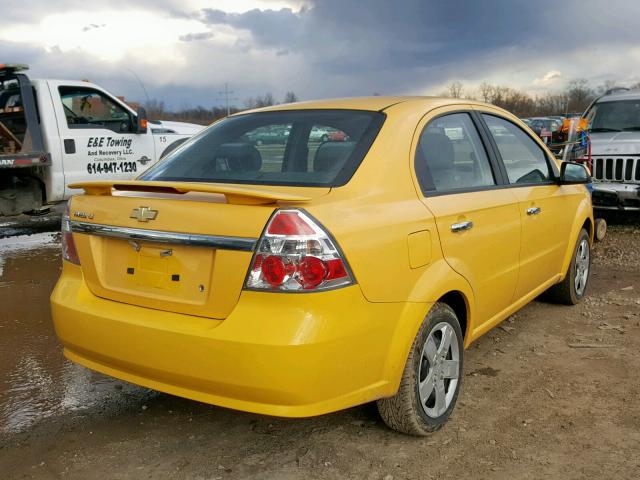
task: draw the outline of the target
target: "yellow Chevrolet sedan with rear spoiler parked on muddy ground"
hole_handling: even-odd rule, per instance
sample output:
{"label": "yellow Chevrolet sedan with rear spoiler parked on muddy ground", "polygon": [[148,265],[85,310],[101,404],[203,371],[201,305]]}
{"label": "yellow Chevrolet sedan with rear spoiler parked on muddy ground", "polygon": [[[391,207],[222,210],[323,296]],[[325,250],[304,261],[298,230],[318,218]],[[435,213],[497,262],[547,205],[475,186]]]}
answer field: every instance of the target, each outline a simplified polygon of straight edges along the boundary
{"label": "yellow Chevrolet sedan with rear spoiler parked on muddy ground", "polygon": [[[265,130],[289,134],[248,140]],[[425,435],[474,340],[545,291],[584,296],[588,182],[482,103],[243,112],[136,181],[71,186],[53,321],[69,359],[135,384],[287,417],[377,401]]]}

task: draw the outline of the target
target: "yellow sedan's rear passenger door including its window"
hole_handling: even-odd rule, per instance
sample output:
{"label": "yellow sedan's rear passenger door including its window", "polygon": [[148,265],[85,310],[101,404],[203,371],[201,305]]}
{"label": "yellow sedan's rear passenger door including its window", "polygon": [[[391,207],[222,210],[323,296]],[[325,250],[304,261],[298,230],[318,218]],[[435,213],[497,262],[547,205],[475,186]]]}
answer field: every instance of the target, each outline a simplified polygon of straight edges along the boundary
{"label": "yellow sedan's rear passenger door including its window", "polygon": [[[422,201],[436,219],[442,253],[474,291],[473,335],[510,305],[518,280],[520,213],[478,119],[460,106],[436,110],[419,126],[415,171]],[[458,111],[456,111],[458,110]]]}

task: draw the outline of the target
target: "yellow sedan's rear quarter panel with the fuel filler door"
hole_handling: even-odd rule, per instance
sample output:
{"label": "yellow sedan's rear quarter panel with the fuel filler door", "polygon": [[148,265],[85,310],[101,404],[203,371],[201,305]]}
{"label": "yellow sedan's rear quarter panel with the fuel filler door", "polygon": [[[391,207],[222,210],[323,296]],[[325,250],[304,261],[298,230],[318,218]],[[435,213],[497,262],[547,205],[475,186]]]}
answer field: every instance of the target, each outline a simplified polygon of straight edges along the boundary
{"label": "yellow sedan's rear quarter panel with the fuel filler door", "polygon": [[[307,207],[336,237],[367,300],[424,304],[420,315],[399,327],[401,350],[410,346],[430,304],[444,294],[460,291],[468,310],[474,308],[470,285],[443,258],[435,219],[412,177],[416,126],[431,109],[416,103],[387,109],[385,124],[351,181]],[[416,233],[425,241],[417,253],[412,250]],[[416,263],[416,257],[426,261]]]}

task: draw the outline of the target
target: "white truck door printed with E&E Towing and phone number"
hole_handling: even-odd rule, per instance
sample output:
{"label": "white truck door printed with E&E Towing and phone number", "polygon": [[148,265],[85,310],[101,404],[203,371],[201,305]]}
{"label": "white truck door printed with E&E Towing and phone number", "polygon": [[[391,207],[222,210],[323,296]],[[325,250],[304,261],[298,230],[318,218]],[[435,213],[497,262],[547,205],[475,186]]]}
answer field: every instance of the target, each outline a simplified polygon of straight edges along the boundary
{"label": "white truck door printed with E&E Towing and phone number", "polygon": [[[51,82],[65,183],[129,180],[155,158],[153,135],[134,133],[135,114],[93,86]],[[65,196],[73,193],[65,187]]]}

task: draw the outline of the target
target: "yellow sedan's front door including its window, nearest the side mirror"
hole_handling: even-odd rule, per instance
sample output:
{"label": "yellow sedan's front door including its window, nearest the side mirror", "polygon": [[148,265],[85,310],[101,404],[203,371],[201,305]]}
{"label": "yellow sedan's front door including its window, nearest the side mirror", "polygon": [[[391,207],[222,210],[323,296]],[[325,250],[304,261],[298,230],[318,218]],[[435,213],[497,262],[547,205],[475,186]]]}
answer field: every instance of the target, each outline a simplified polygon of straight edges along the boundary
{"label": "yellow sedan's front door including its window, nearest the side mirror", "polygon": [[483,112],[482,119],[522,218],[517,301],[560,273],[575,208],[556,181],[555,162],[536,139],[497,111]]}

